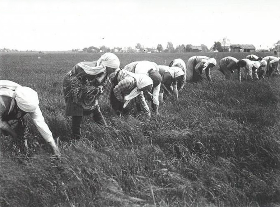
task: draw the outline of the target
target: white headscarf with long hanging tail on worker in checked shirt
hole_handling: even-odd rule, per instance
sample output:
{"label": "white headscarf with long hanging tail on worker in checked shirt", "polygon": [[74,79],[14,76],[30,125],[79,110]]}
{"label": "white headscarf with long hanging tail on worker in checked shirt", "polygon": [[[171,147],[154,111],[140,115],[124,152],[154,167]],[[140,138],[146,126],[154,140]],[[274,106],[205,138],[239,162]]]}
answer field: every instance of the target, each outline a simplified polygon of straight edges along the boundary
{"label": "white headscarf with long hanging tail on worker in checked shirt", "polygon": [[128,74],[136,79],[136,88],[134,88],[128,95],[124,96],[124,108],[127,106],[130,100],[138,96],[142,91],[139,91],[139,89],[142,89],[146,86],[153,85],[152,79],[144,74],[135,74],[128,72]]}

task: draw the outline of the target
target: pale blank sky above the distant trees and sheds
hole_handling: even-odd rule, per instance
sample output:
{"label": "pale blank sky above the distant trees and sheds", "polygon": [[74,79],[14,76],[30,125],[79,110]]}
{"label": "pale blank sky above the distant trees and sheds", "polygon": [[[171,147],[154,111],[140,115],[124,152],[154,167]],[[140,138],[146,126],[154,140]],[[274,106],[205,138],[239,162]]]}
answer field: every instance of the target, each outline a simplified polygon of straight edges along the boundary
{"label": "pale blank sky above the distant trees and sheds", "polygon": [[62,51],[89,46],[268,49],[280,40],[280,0],[0,0],[0,48]]}

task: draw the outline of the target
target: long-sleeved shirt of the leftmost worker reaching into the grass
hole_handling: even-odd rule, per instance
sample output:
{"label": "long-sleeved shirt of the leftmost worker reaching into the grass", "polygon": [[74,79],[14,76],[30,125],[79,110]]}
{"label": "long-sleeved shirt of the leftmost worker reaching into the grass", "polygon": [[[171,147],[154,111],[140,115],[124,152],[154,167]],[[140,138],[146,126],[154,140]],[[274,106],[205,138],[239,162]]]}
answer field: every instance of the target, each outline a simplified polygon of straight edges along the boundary
{"label": "long-sleeved shirt of the leftmost worker reaching into the grass", "polygon": [[[14,106],[11,106],[12,98],[8,96],[0,96],[0,126],[1,130],[5,131],[11,131],[13,130],[11,126],[8,124],[7,121],[18,119],[20,117],[23,117],[24,114],[21,114],[21,112],[16,111],[16,103]],[[10,113],[9,109],[11,108]],[[48,125],[45,123],[43,114],[39,107],[34,112],[30,112],[31,119],[35,126],[37,127],[38,131],[44,138],[46,143],[54,143],[53,135],[51,131],[49,130]],[[54,144],[55,145],[55,144]]]}

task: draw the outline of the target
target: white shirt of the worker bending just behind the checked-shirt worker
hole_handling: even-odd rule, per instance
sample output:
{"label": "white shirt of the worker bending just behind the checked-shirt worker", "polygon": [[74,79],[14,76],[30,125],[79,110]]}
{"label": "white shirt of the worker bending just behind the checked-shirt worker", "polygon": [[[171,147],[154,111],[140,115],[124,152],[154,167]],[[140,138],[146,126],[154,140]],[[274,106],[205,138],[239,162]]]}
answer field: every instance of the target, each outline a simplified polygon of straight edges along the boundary
{"label": "white shirt of the worker bending just behind the checked-shirt worker", "polygon": [[[145,66],[137,67],[137,65],[140,66],[140,64],[144,64]],[[149,75],[148,71],[151,69],[159,71],[159,68],[156,63],[147,60],[132,62],[124,67],[124,70],[127,70],[129,72],[136,73],[136,74],[146,74],[146,75]],[[159,96],[160,89],[161,89],[161,84],[157,86],[153,86],[152,100],[153,103],[156,105],[159,105],[158,96]]]}

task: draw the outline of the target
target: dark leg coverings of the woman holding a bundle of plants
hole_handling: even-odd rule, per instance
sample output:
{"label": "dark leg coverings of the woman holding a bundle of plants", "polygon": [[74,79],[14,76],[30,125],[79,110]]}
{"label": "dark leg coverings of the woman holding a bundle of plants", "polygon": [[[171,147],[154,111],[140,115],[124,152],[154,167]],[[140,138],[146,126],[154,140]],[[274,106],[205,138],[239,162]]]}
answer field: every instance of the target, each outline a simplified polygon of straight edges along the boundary
{"label": "dark leg coverings of the woman holding a bundle of plants", "polygon": [[[96,107],[92,110],[93,120],[99,124],[107,126],[105,118],[103,117],[100,107]],[[81,138],[81,125],[82,125],[82,116],[72,116],[72,133],[74,139]]]}

